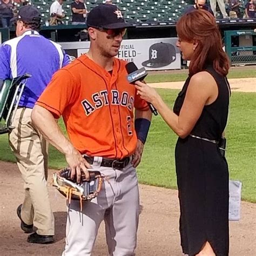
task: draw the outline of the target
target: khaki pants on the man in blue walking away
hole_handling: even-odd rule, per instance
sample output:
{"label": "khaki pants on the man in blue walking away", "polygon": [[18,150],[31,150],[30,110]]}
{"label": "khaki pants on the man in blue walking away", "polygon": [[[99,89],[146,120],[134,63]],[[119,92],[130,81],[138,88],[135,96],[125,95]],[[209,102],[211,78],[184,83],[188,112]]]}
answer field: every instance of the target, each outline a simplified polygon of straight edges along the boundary
{"label": "khaki pants on the man in blue walking away", "polygon": [[32,109],[19,108],[14,117],[14,130],[9,144],[17,159],[24,180],[25,199],[21,217],[24,223],[33,224],[41,235],[54,234],[54,217],[47,190],[48,143],[33,127]]}

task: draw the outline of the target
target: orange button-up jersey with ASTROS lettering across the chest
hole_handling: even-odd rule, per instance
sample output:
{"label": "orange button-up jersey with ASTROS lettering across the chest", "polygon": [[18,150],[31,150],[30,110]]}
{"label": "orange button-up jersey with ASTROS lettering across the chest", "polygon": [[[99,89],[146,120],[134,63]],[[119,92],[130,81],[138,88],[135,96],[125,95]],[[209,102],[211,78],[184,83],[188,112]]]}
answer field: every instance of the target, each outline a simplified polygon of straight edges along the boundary
{"label": "orange button-up jersey with ASTROS lettering across the chest", "polygon": [[122,159],[137,144],[133,107],[147,111],[134,85],[127,82],[126,62],[114,58],[112,75],[86,55],[52,77],[37,103],[63,116],[71,143],[80,153]]}

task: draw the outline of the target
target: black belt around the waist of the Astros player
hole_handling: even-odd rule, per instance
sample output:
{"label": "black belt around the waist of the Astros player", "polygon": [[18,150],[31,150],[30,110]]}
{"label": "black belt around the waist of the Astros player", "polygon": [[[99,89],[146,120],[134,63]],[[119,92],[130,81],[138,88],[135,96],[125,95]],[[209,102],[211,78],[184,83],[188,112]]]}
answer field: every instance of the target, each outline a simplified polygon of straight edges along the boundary
{"label": "black belt around the waist of the Astros player", "polygon": [[[84,159],[89,163],[93,164],[94,157],[83,156]],[[121,170],[130,163],[131,157],[125,157],[123,159],[111,159],[111,158],[102,158],[100,166],[110,167],[113,169]]]}

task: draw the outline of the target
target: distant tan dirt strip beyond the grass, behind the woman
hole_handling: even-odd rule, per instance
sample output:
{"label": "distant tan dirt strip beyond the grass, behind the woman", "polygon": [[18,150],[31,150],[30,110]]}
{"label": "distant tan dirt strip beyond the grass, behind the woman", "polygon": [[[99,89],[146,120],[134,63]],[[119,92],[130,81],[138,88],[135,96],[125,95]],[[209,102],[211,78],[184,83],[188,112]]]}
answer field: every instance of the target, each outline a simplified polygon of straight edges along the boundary
{"label": "distant tan dirt strip beyond the grass, behind the woman", "polygon": [[[232,91],[256,92],[256,78],[235,78],[228,79],[228,82]],[[156,88],[181,89],[184,82],[151,83],[149,85]]]}

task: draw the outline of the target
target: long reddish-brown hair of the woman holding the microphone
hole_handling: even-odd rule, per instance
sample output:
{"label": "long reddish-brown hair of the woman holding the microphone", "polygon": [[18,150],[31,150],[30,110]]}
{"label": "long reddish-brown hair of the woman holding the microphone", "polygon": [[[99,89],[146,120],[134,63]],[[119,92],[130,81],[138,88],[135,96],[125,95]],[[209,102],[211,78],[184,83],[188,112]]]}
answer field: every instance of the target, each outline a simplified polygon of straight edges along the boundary
{"label": "long reddish-brown hair of the woman holding the microphone", "polygon": [[183,15],[177,22],[179,39],[185,42],[197,42],[190,63],[190,75],[194,75],[213,65],[213,69],[226,76],[230,60],[223,50],[220,31],[215,18],[205,10],[195,10]]}

